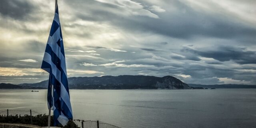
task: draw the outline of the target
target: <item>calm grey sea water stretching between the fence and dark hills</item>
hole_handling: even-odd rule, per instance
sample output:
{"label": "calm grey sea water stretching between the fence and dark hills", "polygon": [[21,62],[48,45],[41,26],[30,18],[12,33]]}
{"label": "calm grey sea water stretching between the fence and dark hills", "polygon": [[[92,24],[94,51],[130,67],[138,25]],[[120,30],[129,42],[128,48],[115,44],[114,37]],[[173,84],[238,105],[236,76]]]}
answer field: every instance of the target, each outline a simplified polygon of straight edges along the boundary
{"label": "calm grey sea water stretching between the fence and dark hills", "polygon": [[[46,90],[0,90],[0,111],[48,113]],[[256,89],[70,90],[76,119],[123,128],[256,128]]]}

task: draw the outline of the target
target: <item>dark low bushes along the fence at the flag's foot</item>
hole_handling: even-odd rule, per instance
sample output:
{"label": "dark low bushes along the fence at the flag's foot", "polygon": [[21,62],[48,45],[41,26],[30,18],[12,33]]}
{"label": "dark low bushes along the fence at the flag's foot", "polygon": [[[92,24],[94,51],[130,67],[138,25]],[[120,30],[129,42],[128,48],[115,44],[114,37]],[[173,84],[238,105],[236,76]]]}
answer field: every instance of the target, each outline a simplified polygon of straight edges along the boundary
{"label": "dark low bushes along the fence at the flag's foot", "polygon": [[[46,114],[38,114],[36,116],[29,116],[29,115],[24,115],[24,116],[20,116],[20,115],[15,115],[15,116],[3,116],[0,115],[0,122],[1,123],[16,123],[16,124],[31,124],[31,118],[32,118],[32,124],[33,125],[38,125],[41,127],[45,127],[48,126],[48,115]],[[51,116],[51,124],[50,126],[53,126],[53,116]],[[59,126],[59,127],[63,127],[63,126]],[[64,126],[63,128],[79,128],[72,120],[70,120],[66,126]]]}

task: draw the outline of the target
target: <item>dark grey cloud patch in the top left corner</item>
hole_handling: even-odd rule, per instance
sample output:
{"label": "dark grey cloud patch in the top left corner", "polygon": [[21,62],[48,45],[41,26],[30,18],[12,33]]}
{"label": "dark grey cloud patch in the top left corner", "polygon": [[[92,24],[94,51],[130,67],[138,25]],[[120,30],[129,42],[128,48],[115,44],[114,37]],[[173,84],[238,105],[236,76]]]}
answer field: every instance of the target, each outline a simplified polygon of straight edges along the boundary
{"label": "dark grey cloud patch in the top left corner", "polygon": [[0,0],[0,13],[16,20],[24,20],[33,9],[26,0]]}

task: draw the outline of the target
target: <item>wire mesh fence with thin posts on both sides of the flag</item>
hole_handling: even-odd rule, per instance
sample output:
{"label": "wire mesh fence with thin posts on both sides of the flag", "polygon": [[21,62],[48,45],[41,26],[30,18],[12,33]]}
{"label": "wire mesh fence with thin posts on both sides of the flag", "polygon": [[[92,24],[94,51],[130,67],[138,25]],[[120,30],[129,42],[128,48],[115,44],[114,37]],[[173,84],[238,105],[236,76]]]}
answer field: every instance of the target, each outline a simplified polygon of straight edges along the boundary
{"label": "wire mesh fence with thin posts on both sides of the flag", "polygon": [[[42,114],[40,112],[36,112],[34,110],[0,110],[0,115],[2,116],[37,116],[38,114]],[[118,126],[108,124],[106,122],[98,121],[98,120],[79,120],[75,119],[73,122],[79,128],[120,128]],[[32,123],[32,118],[31,118]]]}

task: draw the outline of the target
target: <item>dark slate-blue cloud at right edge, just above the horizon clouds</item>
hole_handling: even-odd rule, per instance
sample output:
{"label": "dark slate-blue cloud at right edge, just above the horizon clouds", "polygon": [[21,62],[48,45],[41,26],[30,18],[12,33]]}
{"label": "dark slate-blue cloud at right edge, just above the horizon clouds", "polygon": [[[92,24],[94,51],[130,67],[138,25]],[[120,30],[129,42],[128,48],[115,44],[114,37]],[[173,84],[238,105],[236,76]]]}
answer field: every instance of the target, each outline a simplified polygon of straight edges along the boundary
{"label": "dark slate-blue cloud at right edge, just above the horizon clouds", "polygon": [[204,48],[203,50],[194,50],[192,48],[184,47],[181,51],[198,54],[206,58],[214,58],[221,62],[233,60],[238,64],[256,64],[256,52],[248,51],[246,48],[217,46],[215,49]]}

